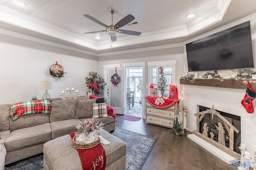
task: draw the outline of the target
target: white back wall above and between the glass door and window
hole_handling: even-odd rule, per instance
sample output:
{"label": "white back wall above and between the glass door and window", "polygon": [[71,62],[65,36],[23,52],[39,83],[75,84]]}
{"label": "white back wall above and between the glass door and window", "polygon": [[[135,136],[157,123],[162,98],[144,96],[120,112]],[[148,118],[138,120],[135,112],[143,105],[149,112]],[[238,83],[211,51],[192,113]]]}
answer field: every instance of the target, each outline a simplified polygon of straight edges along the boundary
{"label": "white back wall above and between the glass door and window", "polygon": [[[148,84],[148,66],[147,62],[176,60],[176,80],[175,84],[179,85],[180,76],[184,72],[184,47],[172,47],[165,49],[155,49],[133,53],[123,53],[118,55],[106,55],[99,57],[98,72],[103,75],[104,64],[124,64],[146,62],[145,66],[145,85]],[[145,89],[145,87],[143,88]],[[145,96],[148,95],[148,89]]]}

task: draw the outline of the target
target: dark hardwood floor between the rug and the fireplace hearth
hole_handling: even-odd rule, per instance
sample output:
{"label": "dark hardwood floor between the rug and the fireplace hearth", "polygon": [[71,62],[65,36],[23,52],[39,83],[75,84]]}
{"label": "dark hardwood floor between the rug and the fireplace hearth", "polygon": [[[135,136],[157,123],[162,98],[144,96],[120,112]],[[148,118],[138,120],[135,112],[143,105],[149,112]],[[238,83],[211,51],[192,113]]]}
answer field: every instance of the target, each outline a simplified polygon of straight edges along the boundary
{"label": "dark hardwood floor between the rug and the fireplace hearth", "polygon": [[127,121],[117,115],[116,127],[157,138],[142,170],[234,170],[194,141],[185,133],[177,136],[169,128],[146,124],[145,119]]}

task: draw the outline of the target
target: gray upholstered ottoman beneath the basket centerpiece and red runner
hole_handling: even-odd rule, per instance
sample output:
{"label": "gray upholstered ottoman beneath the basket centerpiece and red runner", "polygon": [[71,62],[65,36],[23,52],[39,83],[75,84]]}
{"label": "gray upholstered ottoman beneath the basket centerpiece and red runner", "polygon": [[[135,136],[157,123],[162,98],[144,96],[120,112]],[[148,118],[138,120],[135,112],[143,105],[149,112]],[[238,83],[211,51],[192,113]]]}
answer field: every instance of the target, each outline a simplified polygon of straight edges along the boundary
{"label": "gray upholstered ottoman beneath the basket centerpiece and red runner", "polygon": [[[110,141],[102,145],[106,153],[106,170],[124,170],[126,167],[126,144],[107,131],[97,130]],[[70,135],[52,139],[44,144],[44,170],[82,170],[78,152],[72,146]],[[88,155],[89,156],[89,155]]]}

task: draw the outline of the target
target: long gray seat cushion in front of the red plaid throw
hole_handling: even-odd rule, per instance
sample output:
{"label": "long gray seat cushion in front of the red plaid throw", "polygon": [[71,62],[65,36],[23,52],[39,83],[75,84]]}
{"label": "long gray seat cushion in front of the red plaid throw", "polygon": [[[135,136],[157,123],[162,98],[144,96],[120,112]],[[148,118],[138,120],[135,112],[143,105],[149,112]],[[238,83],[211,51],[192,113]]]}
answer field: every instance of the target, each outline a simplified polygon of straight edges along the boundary
{"label": "long gray seat cushion in front of the red plaid throw", "polygon": [[12,131],[5,141],[7,152],[51,140],[50,123]]}

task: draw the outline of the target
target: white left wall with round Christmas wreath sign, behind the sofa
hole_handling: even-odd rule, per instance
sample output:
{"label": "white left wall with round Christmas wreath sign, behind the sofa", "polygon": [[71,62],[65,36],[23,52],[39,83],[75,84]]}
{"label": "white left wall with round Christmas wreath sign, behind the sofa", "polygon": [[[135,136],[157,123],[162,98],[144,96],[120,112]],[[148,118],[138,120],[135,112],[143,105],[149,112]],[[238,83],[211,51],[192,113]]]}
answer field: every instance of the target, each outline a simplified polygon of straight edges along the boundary
{"label": "white left wall with round Christmas wreath sign, behind the sofa", "polygon": [[[98,57],[0,34],[0,104],[41,99],[45,90],[39,89],[42,80],[52,80],[51,98],[59,98],[61,91],[74,87],[86,95],[85,77],[97,71]],[[51,64],[61,64],[64,78],[48,73]]]}

